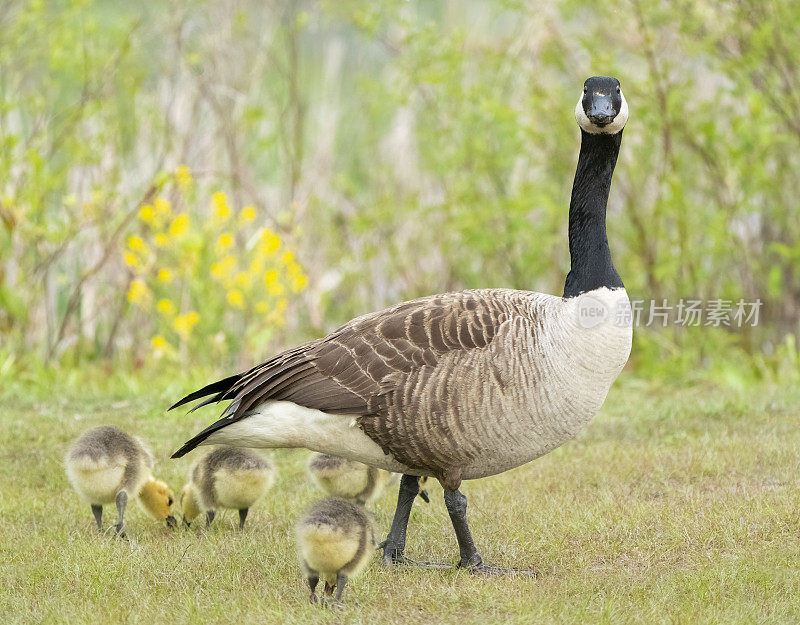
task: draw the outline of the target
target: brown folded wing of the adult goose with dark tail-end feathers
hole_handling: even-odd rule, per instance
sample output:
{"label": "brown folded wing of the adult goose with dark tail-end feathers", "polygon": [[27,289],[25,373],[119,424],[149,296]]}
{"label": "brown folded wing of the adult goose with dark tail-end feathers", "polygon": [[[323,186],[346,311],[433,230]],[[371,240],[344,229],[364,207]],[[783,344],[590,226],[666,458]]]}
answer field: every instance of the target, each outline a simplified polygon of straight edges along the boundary
{"label": "brown folded wing of the adult goose with dark tail-end feathers", "polygon": [[[423,367],[435,368],[444,354],[485,347],[500,325],[520,312],[519,304],[513,291],[460,291],[353,319],[322,339],[227,378],[227,390],[215,383],[189,395],[213,394],[201,405],[232,400],[220,421],[198,434],[191,446],[267,400],[333,414],[380,413],[385,408],[379,398],[392,391],[389,387],[402,386]],[[176,406],[191,401],[188,397]]]}

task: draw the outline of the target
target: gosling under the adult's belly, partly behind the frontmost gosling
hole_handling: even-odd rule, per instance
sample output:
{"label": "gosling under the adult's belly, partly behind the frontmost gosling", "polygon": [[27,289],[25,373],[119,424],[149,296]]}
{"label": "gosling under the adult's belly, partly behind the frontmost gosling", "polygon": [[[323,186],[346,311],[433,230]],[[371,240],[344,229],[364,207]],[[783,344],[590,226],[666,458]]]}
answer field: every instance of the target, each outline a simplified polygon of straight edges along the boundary
{"label": "gosling under the adult's belly, partly behind the frontmost gosling", "polygon": [[308,473],[329,495],[362,505],[380,495],[392,477],[388,471],[329,454],[313,454],[308,459]]}

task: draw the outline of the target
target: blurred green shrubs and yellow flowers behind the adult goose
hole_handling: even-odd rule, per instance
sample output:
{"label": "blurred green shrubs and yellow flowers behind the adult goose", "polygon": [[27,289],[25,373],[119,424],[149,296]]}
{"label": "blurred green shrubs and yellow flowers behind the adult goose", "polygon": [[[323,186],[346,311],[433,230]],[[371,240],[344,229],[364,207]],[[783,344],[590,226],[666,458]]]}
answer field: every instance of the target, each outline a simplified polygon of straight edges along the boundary
{"label": "blurred green shrubs and yellow flowers behind the adult goose", "polygon": [[[0,5],[0,385],[245,367],[402,299],[560,294],[589,75],[642,377],[800,380],[800,3]],[[147,376],[144,376],[147,379]]]}

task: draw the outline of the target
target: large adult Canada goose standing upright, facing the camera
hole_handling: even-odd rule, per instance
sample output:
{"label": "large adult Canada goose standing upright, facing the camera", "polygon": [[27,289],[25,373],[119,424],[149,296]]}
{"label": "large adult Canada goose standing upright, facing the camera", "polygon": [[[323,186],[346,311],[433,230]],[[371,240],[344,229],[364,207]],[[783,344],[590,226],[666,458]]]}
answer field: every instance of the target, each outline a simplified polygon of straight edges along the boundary
{"label": "large adult Canada goose standing upright, facing the camera", "polygon": [[[606,204],[628,118],[615,78],[589,78],[569,207],[563,296],[511,289],[433,295],[367,314],[328,336],[214,382],[173,408],[231,400],[183,445],[306,447],[403,473],[384,562],[403,562],[416,476],[436,477],[459,566],[483,565],[462,480],[546,454],[597,413],[628,360],[630,302],[611,261]],[[199,407],[199,406],[198,406]]]}

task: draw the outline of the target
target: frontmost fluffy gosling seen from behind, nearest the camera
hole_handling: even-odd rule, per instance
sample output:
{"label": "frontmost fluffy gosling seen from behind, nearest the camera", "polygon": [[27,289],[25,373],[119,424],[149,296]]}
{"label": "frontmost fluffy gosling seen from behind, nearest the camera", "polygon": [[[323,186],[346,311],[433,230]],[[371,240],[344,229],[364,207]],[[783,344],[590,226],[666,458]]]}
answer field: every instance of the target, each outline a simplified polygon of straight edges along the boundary
{"label": "frontmost fluffy gosling seen from behind, nearest the camera", "polygon": [[325,594],[332,595],[335,587],[335,599],[341,601],[347,580],[364,568],[375,549],[375,531],[366,510],[344,499],[318,501],[297,523],[295,534],[312,603],[317,602],[320,579]]}

